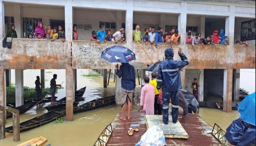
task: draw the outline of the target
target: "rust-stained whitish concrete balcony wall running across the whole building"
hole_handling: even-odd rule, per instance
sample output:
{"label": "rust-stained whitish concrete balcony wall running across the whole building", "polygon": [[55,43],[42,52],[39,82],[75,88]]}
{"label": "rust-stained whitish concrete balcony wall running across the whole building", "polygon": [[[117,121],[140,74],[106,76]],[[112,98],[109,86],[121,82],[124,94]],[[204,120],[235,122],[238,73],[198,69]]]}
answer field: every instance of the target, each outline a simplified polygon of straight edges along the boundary
{"label": "rust-stained whitish concrete balcony wall running across the whole building", "polygon": [[[0,47],[0,69],[113,69],[116,64],[101,59],[101,52],[114,45],[126,43],[96,43],[92,41],[73,41],[71,50],[65,42],[45,39],[13,39],[12,49]],[[142,43],[150,58],[156,62],[165,58],[164,51],[169,43],[154,45]],[[130,48],[136,54],[131,64],[137,69],[146,68],[150,59],[138,43]],[[252,69],[255,68],[255,46],[237,45],[180,45],[189,59],[185,69]],[[174,59],[178,57],[178,46],[174,45]]]}

